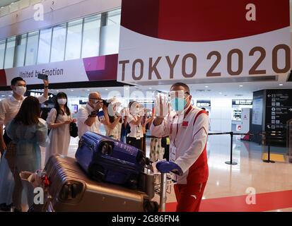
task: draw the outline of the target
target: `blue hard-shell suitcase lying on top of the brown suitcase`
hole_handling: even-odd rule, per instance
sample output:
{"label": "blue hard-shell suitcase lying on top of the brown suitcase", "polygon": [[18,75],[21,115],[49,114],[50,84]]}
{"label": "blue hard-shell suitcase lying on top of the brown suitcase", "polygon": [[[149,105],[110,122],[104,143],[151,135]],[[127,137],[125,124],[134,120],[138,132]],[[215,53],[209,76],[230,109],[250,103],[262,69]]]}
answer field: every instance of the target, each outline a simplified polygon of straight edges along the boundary
{"label": "blue hard-shell suitcase lying on top of the brown suitcase", "polygon": [[136,189],[139,174],[146,165],[141,150],[93,132],[86,132],[81,137],[75,157],[93,179],[133,189]]}

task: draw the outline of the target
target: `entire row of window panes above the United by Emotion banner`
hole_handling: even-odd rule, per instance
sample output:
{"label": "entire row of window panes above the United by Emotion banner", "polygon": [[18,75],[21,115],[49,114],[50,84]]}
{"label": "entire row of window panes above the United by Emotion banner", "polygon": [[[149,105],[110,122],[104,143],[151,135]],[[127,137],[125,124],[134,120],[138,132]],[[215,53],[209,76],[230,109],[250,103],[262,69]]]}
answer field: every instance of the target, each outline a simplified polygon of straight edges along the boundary
{"label": "entire row of window panes above the United by Emotion banner", "polygon": [[120,16],[117,8],[0,40],[0,69],[117,54]]}

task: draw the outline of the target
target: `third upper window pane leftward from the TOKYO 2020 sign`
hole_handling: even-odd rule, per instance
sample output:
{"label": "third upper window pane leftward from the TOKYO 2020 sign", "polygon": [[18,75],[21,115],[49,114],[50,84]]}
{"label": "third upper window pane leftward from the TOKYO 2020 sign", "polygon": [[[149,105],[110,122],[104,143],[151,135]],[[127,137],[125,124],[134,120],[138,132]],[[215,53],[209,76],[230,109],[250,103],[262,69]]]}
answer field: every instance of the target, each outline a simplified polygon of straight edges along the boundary
{"label": "third upper window pane leftward from the TOKYO 2020 sign", "polygon": [[81,54],[81,33],[83,19],[68,23],[66,40],[66,60],[79,59]]}

